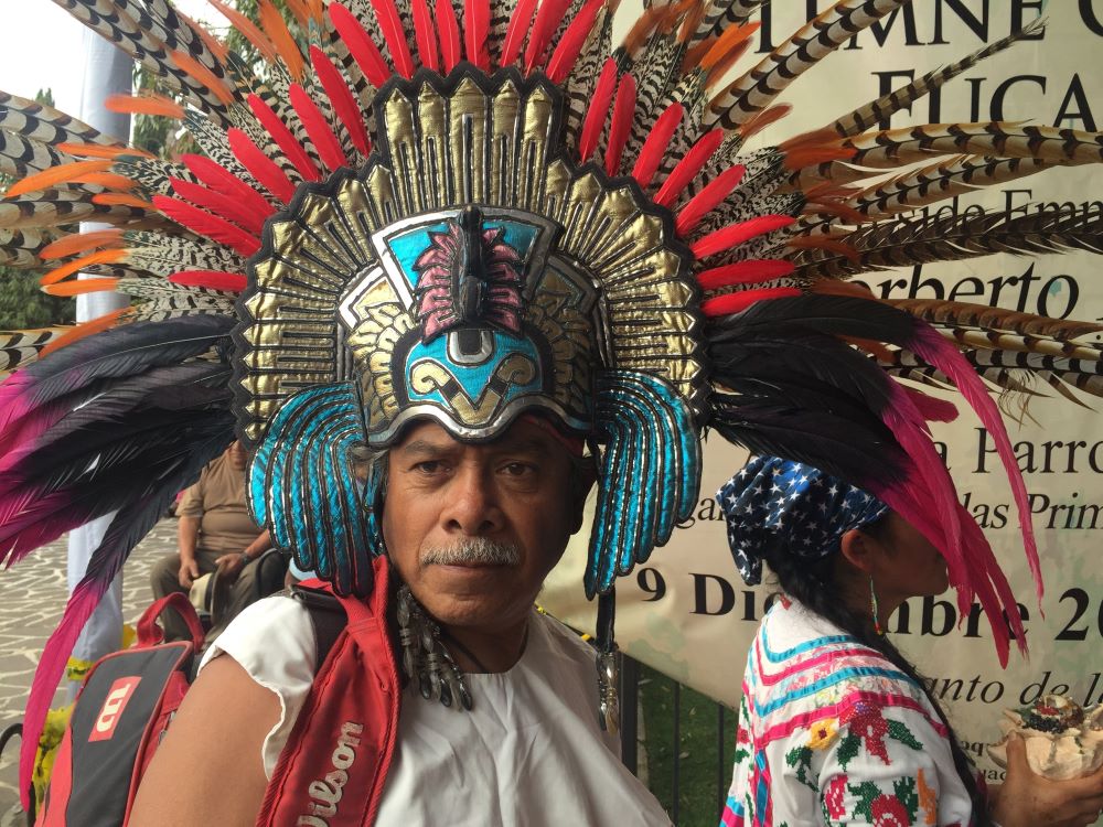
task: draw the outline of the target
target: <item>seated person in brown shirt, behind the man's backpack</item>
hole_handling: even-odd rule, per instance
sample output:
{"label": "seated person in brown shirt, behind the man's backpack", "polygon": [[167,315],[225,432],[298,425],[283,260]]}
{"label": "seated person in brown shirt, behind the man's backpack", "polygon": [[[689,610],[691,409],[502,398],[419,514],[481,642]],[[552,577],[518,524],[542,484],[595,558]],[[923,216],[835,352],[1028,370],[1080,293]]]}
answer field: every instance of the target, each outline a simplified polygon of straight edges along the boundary
{"label": "seated person in brown shirt, behind the man's backpack", "polygon": [[[256,560],[271,545],[245,504],[246,455],[236,440],[200,474],[199,482],[184,493],[176,509],[179,551],[162,557],[150,572],[153,598],[171,592],[184,594],[202,574],[218,571],[234,580],[229,614],[240,611],[253,597]],[[164,616],[165,638],[188,636],[188,631],[169,612]]]}

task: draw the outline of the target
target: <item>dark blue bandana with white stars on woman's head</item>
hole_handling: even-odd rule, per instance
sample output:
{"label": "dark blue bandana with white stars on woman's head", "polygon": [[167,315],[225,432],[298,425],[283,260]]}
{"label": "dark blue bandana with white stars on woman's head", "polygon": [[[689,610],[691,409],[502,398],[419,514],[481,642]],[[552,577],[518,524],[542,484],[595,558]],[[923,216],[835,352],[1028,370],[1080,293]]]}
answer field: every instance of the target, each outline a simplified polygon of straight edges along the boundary
{"label": "dark blue bandana with white stars on woman's head", "polygon": [[839,549],[844,534],[889,509],[861,488],[777,457],[751,460],[716,500],[728,520],[736,568],[748,586],[761,582],[762,556],[770,546],[806,559],[826,557]]}

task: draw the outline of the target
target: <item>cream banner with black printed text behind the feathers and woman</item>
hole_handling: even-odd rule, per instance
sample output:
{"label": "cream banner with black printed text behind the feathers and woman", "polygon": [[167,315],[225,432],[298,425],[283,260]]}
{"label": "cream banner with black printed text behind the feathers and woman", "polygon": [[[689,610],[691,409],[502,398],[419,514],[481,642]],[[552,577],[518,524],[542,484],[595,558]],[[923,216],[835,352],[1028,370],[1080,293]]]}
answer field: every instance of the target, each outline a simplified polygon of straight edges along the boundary
{"label": "cream banner with black printed text behind the feathers and woman", "polygon": [[[759,52],[796,31],[828,6],[774,2],[758,33]],[[772,9],[772,11],[771,11]],[[751,148],[832,122],[881,94],[944,66],[1045,15],[1043,33],[964,72],[892,126],[968,120],[1029,120],[1095,130],[1103,122],[1103,0],[915,0],[858,34],[797,79],[783,100],[792,112]],[[749,64],[745,57],[741,66]],[[1096,67],[1096,68],[1092,68]],[[941,202],[928,214],[977,211],[1025,215],[1063,211],[1099,219],[1103,171],[1050,170],[993,191]],[[886,270],[864,281],[878,294],[998,304],[1028,313],[1097,321],[1103,315],[1103,258],[1090,253],[1037,258],[1000,254],[911,270]],[[1078,407],[1046,385],[1002,400],[1042,560],[1046,592],[1034,593],[1019,517],[992,437],[964,404],[959,420],[935,429],[939,448],[968,511],[985,529],[1020,603],[1029,659],[1013,651],[1000,669],[988,622],[974,605],[959,617],[953,593],[909,601],[890,623],[949,708],[960,735],[992,781],[1002,773],[984,744],[998,739],[1007,707],[1046,692],[1080,704],[1103,701],[1103,406]],[[945,398],[960,401],[954,394]],[[735,707],[747,649],[771,599],[769,582],[743,586],[727,549],[713,493],[746,453],[713,434],[705,444],[702,498],[672,541],[618,586],[617,634],[632,656]],[[578,536],[542,600],[570,623],[592,626],[592,605],[578,583],[586,537]]]}

